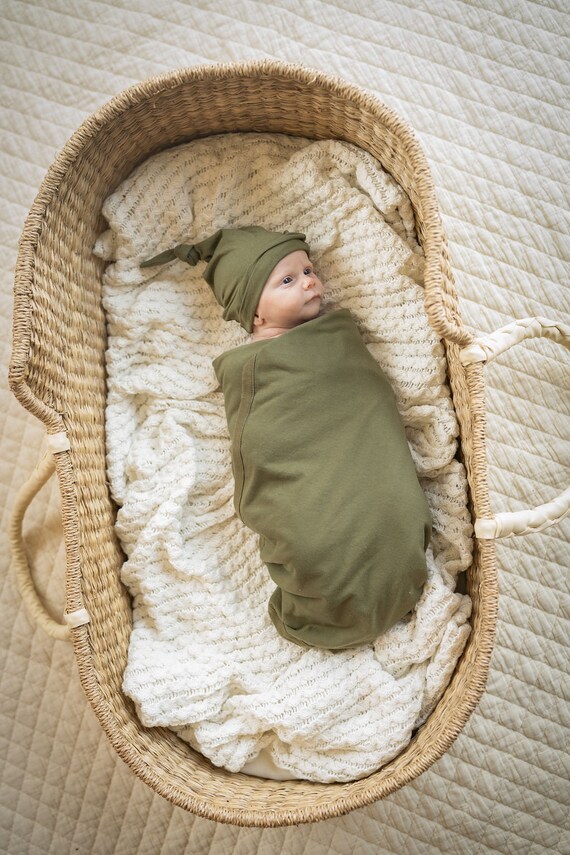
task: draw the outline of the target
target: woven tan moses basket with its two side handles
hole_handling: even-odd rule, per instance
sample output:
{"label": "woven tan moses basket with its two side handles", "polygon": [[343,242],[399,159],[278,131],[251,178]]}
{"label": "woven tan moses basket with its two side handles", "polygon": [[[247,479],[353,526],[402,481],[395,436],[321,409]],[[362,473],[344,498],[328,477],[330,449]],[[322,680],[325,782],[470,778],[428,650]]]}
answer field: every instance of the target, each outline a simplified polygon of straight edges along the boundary
{"label": "woven tan moses basket with its two side handles", "polygon": [[[427,320],[446,346],[476,522],[467,579],[472,632],[451,683],[407,748],[380,771],[352,783],[231,774],[174,732],[143,727],[121,690],[132,615],[119,581],[124,556],[114,533],[116,508],[105,468],[103,262],[93,255],[104,227],[101,207],[138,164],[159,150],[197,137],[251,131],[353,143],[377,158],[408,194],[425,253]],[[48,452],[20,491],[12,543],[32,617],[50,635],[71,638],[89,703],[114,748],[146,784],[212,820],[290,825],[381,799],[449,748],[486,682],[497,612],[493,537],[537,530],[555,515],[542,506],[521,521],[520,513],[494,517],[489,507],[482,362],[530,335],[564,338],[556,325],[542,319],[511,326],[493,341],[491,336],[473,342],[459,315],[435,190],[417,138],[392,110],[341,80],[273,61],[190,68],[126,90],[69,140],[30,211],[16,269],[10,382],[23,406],[45,424]],[[67,556],[63,623],[48,615],[35,591],[21,538],[25,508],[54,470]]]}

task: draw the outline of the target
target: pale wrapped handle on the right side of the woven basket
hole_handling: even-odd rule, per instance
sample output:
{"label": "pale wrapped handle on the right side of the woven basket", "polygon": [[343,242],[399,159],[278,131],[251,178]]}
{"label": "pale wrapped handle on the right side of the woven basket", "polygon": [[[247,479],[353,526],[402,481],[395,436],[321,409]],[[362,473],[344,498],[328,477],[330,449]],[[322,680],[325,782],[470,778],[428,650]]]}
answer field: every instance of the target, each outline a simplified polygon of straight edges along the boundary
{"label": "pale wrapped handle on the right side of the woven basket", "polygon": [[[570,349],[570,327],[567,325],[547,318],[522,318],[488,336],[475,339],[461,349],[459,357],[463,365],[470,365],[473,362],[489,363],[515,344],[528,338],[539,337],[549,338]],[[475,536],[489,540],[532,534],[560,522],[568,513],[570,513],[570,487],[552,502],[546,502],[536,508],[477,519]]]}

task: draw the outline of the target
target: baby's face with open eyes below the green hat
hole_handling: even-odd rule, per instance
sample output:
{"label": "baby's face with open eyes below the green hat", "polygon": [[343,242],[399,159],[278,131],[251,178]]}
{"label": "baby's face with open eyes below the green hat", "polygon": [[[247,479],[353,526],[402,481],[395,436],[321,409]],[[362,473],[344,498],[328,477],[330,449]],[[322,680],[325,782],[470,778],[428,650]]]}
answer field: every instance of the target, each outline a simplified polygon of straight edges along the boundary
{"label": "baby's face with open eyes below the green hat", "polygon": [[323,285],[307,253],[302,249],[289,253],[275,265],[261,292],[254,336],[280,335],[316,318],[322,297]]}

